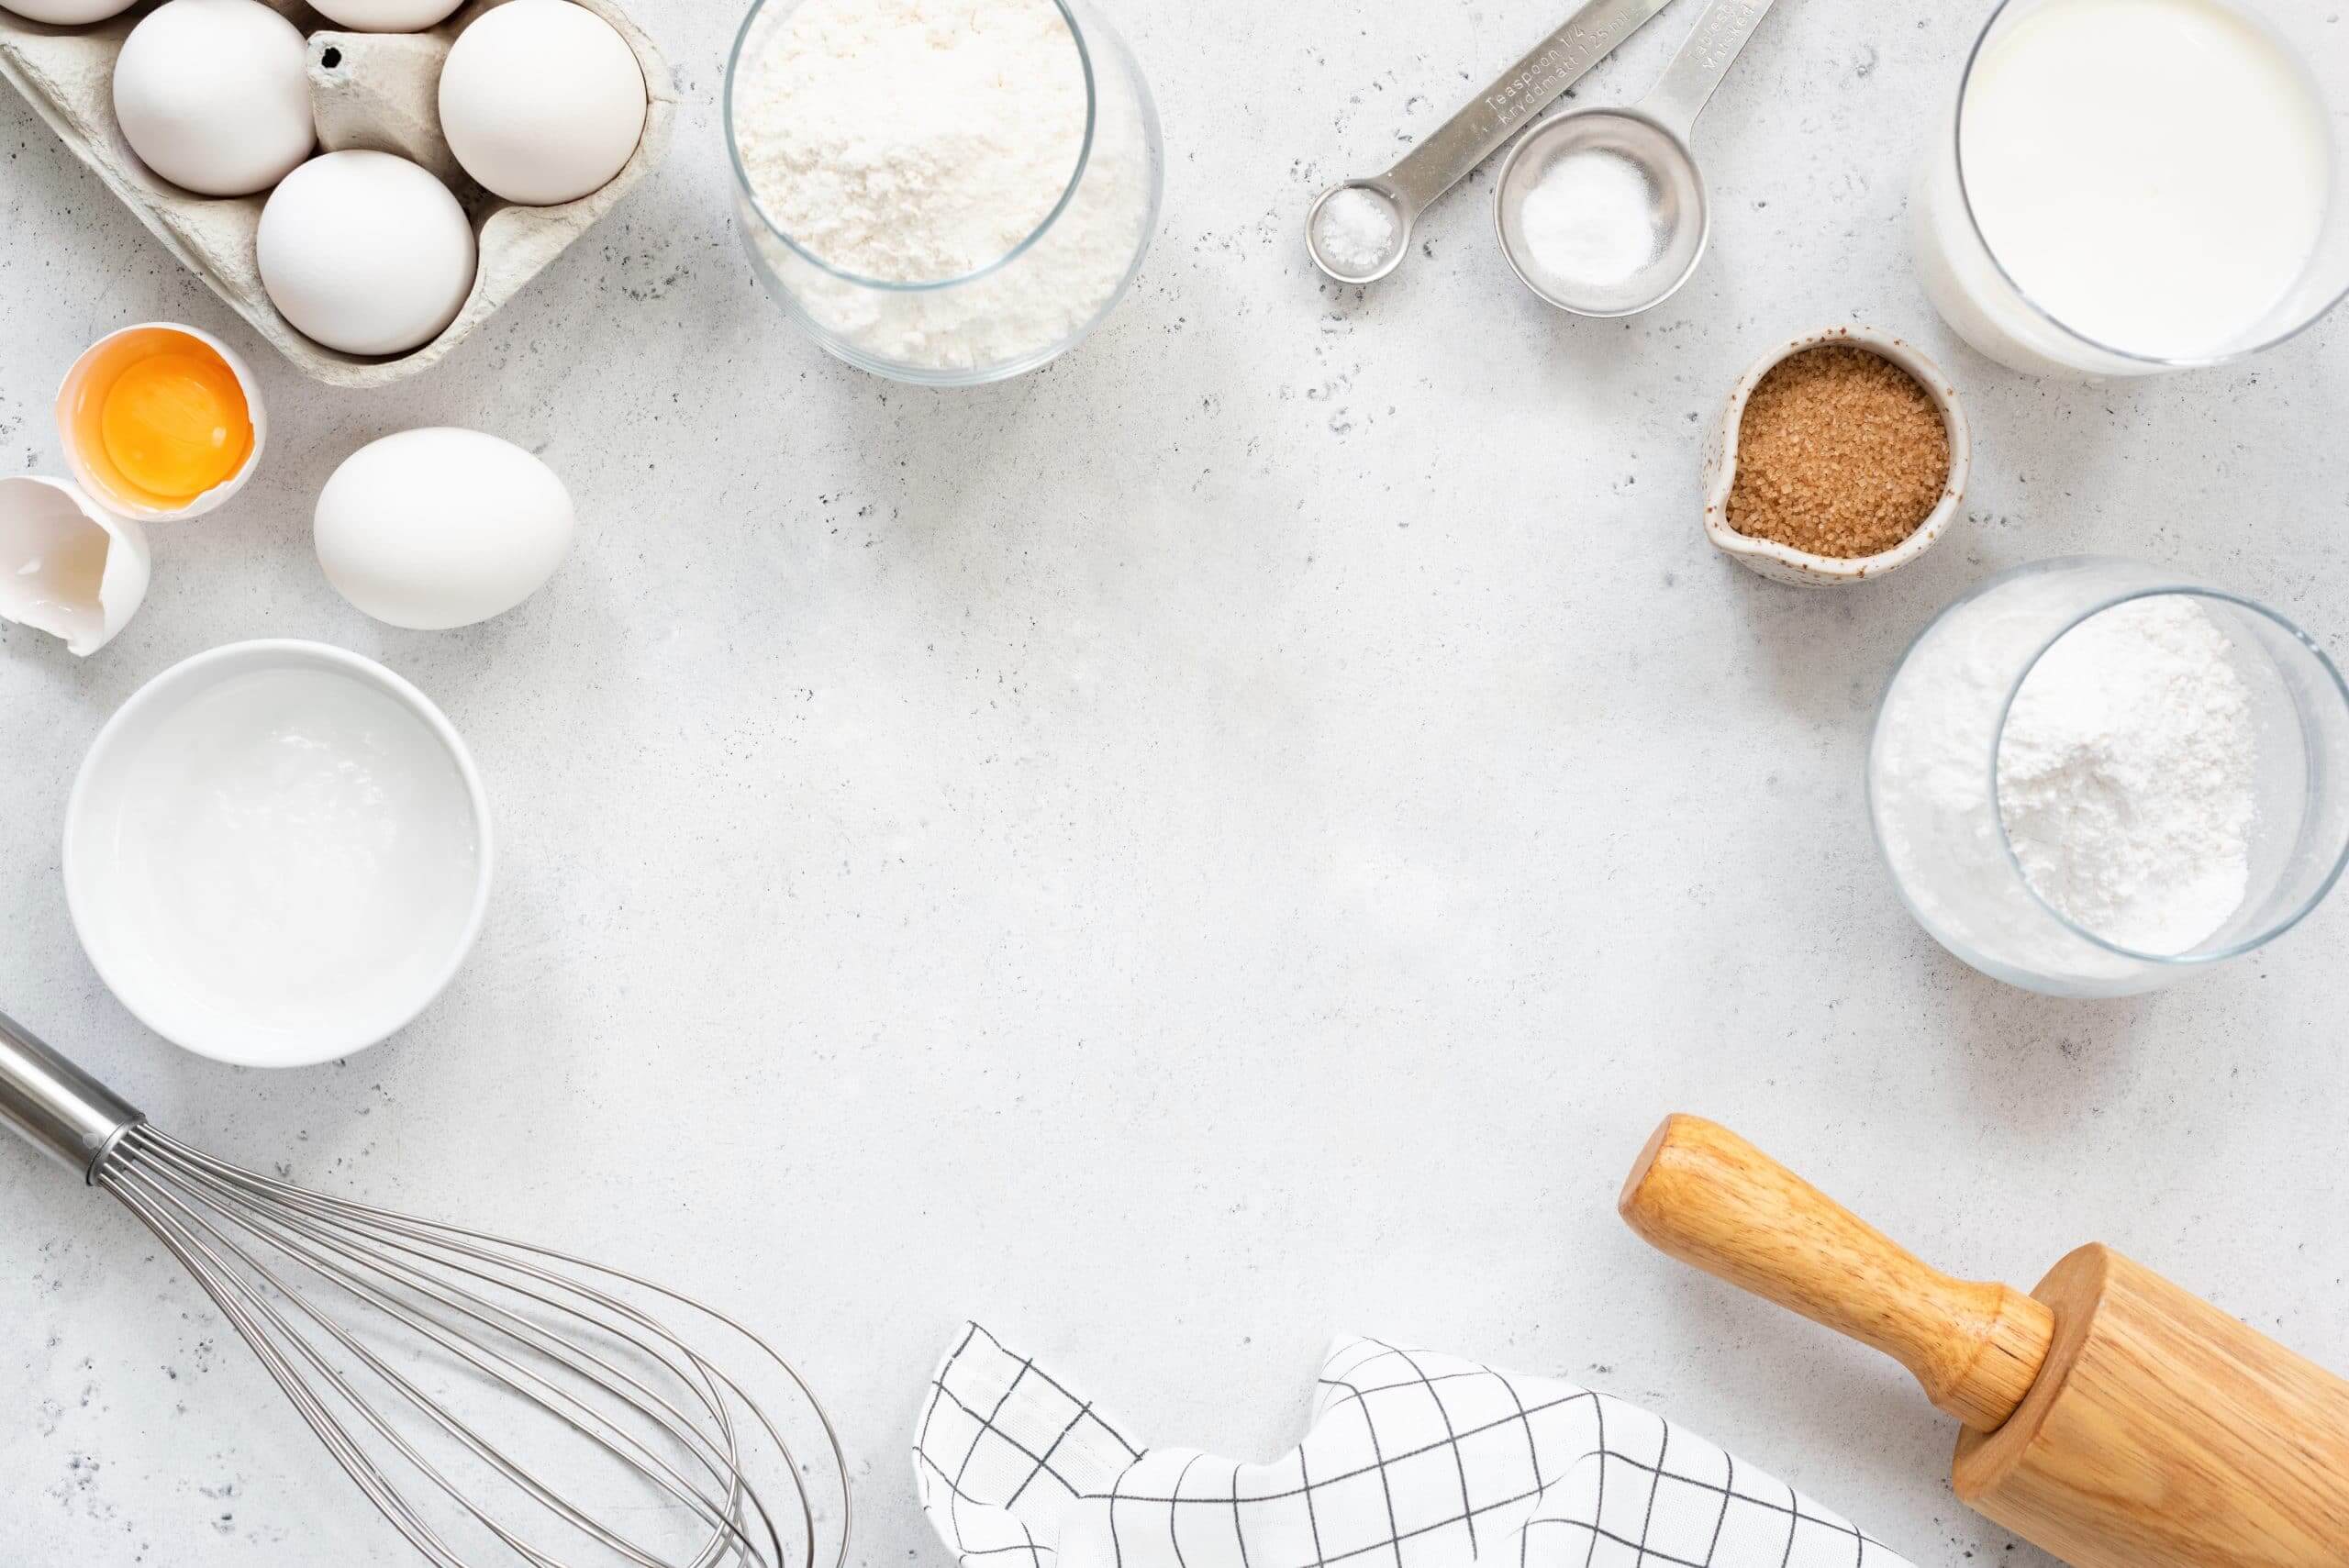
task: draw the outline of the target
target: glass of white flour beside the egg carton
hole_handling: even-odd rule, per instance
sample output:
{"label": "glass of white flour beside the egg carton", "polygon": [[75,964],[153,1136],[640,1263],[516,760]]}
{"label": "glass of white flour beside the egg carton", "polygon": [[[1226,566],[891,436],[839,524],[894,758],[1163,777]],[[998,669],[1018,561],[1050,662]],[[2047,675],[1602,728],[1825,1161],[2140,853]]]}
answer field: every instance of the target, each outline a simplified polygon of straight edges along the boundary
{"label": "glass of white flour beside the egg carton", "polygon": [[1165,185],[1149,85],[1088,0],[759,0],[726,143],[752,268],[792,319],[940,387],[1099,326]]}

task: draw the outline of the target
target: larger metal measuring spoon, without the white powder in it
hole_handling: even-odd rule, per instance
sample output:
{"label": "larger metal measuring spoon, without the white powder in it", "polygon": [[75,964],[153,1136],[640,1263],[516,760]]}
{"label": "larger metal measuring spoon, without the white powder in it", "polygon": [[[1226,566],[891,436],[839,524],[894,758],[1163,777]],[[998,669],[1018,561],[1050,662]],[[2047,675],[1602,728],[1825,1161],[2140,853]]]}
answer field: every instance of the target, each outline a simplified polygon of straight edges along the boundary
{"label": "larger metal measuring spoon, without the white powder in it", "polygon": [[[1769,7],[1771,0],[1712,0],[1644,99],[1630,108],[1560,110],[1525,134],[1494,183],[1494,223],[1501,254],[1527,289],[1581,317],[1628,317],[1665,303],[1696,275],[1712,209],[1689,136]],[[1647,183],[1651,246],[1630,272],[1571,277],[1543,265],[1525,237],[1525,200],[1553,167],[1590,155],[1623,160]]]}

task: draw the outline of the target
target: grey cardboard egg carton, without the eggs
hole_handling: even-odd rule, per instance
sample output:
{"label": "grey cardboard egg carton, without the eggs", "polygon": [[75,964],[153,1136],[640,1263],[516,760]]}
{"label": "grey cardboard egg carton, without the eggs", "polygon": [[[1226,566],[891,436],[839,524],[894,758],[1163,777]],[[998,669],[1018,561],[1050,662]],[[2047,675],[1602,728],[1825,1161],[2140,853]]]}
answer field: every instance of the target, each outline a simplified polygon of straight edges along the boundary
{"label": "grey cardboard egg carton, without the eggs", "polygon": [[[148,174],[115,124],[113,77],[122,40],[141,14],[85,28],[54,28],[0,9],[0,77],[7,77],[56,138],[89,164],[174,256],[202,277],[230,310],[251,322],[303,373],[336,387],[381,387],[430,369],[472,336],[505,300],[538,277],[597,218],[627,195],[669,146],[677,85],[653,40],[611,0],[576,0],[627,40],[644,68],[646,117],[637,155],[601,190],[559,207],[517,207],[489,195],[458,169],[439,131],[439,66],[456,35],[503,0],[474,0],[428,33],[341,33],[301,0],[268,0],[310,38],[310,101],[319,148],[373,148],[411,157],[456,192],[479,237],[479,272],[456,322],[423,347],[390,359],[341,354],[301,336],[261,286],[254,235],[268,192],[200,197]],[[5,5],[5,0],[0,0]]]}

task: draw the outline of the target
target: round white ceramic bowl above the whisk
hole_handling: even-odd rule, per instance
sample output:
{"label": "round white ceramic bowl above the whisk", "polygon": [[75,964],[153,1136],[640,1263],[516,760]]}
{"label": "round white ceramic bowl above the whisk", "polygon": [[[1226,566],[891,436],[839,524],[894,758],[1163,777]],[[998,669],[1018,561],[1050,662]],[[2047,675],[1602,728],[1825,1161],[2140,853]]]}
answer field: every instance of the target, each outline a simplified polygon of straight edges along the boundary
{"label": "round white ceramic bowl above the whisk", "polygon": [[296,1068],[402,1030],[482,930],[489,803],[413,685],[324,643],[230,643],[148,681],[66,805],[66,904],[164,1040]]}

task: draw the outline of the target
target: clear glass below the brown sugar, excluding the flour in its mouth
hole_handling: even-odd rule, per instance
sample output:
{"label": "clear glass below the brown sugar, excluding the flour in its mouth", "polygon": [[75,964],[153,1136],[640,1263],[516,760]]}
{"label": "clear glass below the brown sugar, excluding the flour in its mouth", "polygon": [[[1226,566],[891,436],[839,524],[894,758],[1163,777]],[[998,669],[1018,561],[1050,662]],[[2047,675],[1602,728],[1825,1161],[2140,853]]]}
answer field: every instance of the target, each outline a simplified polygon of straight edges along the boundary
{"label": "clear glass below the brown sugar, excluding the flour in its mouth", "polygon": [[[2135,953],[2074,925],[2022,876],[1999,815],[1999,737],[2015,692],[2072,627],[2189,594],[2232,643],[2257,735],[2257,824],[2243,904],[2187,953]],[[1900,899],[1976,969],[2048,995],[2131,995],[2295,927],[2349,861],[2349,688],[2274,610],[2138,561],[2037,561],[1983,582],[1910,646],[1867,746],[1867,815]]]}

